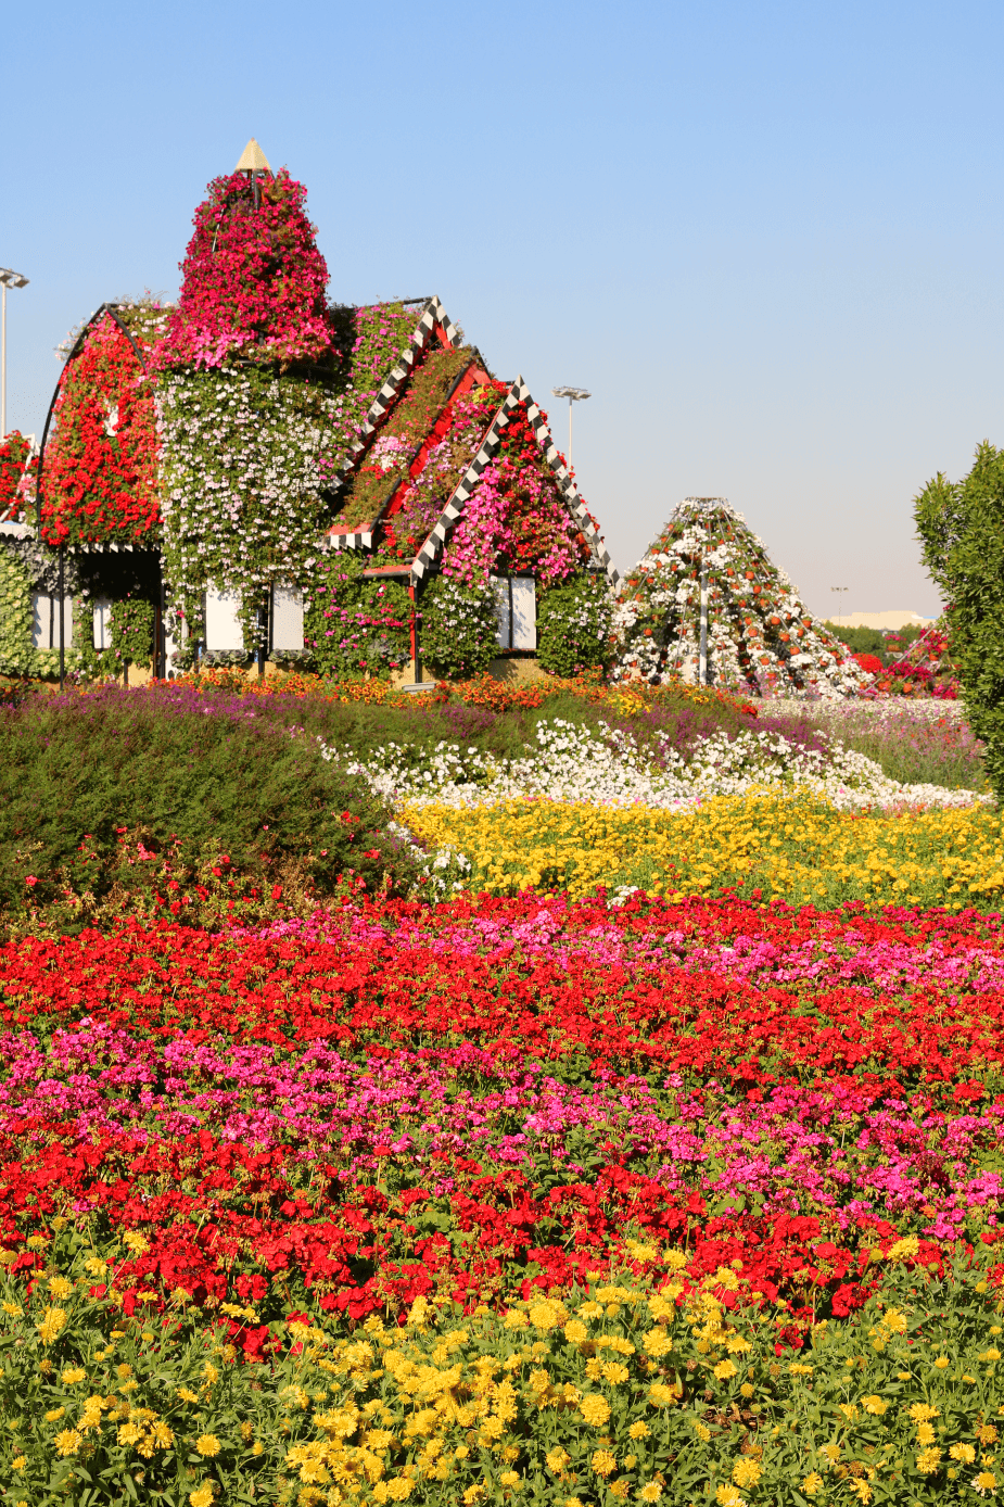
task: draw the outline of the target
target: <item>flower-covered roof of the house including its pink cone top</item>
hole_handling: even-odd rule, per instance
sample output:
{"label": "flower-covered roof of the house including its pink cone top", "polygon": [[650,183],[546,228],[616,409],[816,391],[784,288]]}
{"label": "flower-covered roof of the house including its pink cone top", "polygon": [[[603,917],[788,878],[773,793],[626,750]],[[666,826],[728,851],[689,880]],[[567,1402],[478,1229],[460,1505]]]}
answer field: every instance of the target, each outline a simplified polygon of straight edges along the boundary
{"label": "flower-covered roof of the house including its pink cone top", "polygon": [[176,306],[103,304],[72,339],[39,461],[48,544],[158,547],[175,586],[259,591],[327,530],[421,580],[463,515],[458,561],[615,579],[522,381],[436,297],[329,304],[306,190],[256,143],[193,223]]}

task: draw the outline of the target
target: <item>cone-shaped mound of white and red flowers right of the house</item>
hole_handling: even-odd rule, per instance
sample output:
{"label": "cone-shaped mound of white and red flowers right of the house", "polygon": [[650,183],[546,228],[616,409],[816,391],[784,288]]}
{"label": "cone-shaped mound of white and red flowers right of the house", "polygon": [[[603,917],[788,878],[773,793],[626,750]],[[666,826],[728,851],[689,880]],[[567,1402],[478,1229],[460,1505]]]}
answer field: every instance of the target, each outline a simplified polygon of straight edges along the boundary
{"label": "cone-shaped mound of white and red flowers right of the house", "polygon": [[684,497],[627,576],[614,627],[621,678],[695,681],[704,663],[709,683],[764,696],[871,683],[724,497]]}

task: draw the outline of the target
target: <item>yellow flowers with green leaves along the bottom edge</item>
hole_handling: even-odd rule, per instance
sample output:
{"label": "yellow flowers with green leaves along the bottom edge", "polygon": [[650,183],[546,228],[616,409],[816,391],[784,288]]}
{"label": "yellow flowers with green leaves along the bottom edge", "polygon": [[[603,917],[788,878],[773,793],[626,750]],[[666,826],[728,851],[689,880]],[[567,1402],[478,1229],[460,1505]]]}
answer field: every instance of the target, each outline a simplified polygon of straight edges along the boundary
{"label": "yellow flowers with green leaves along the bottom edge", "polygon": [[876,1251],[864,1308],[813,1323],[737,1301],[728,1267],[657,1291],[654,1246],[630,1240],[641,1270],[505,1316],[418,1298],[348,1332],[305,1295],[247,1362],[256,1310],[200,1310],[151,1272],[127,1317],[116,1281],[146,1269],[145,1237],[54,1225],[32,1291],[0,1287],[11,1507],[321,1507],[332,1480],[359,1507],[945,1507],[998,1486],[1001,1302],[980,1246],[930,1267],[917,1240]]}

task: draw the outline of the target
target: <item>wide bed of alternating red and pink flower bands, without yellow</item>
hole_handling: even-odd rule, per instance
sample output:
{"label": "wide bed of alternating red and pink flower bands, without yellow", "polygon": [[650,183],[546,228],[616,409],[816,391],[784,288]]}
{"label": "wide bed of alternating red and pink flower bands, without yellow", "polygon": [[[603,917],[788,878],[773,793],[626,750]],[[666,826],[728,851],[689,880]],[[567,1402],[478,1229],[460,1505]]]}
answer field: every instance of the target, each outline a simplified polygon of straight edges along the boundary
{"label": "wide bed of alternating red and pink flower bands, without yellow", "polygon": [[142,1231],[127,1308],[505,1301],[644,1233],[841,1314],[874,1245],[999,1228],[996,918],[362,903],[33,939],[0,978],[0,1236],[30,1269],[59,1215]]}

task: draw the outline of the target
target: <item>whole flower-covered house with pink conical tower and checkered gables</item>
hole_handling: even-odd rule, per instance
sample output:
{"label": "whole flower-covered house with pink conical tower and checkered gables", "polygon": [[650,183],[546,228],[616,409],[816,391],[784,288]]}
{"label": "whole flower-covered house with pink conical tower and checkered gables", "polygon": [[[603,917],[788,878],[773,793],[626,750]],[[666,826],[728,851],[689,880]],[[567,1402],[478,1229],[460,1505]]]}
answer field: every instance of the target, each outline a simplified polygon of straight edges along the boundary
{"label": "whole flower-covered house with pink conical tower and checkered gables", "polygon": [[[603,662],[595,521],[526,386],[439,298],[330,304],[305,188],[255,142],[182,273],[176,306],[103,304],[53,396],[29,521],[63,573],[69,671]],[[11,634],[24,669],[57,648],[42,574]]]}

